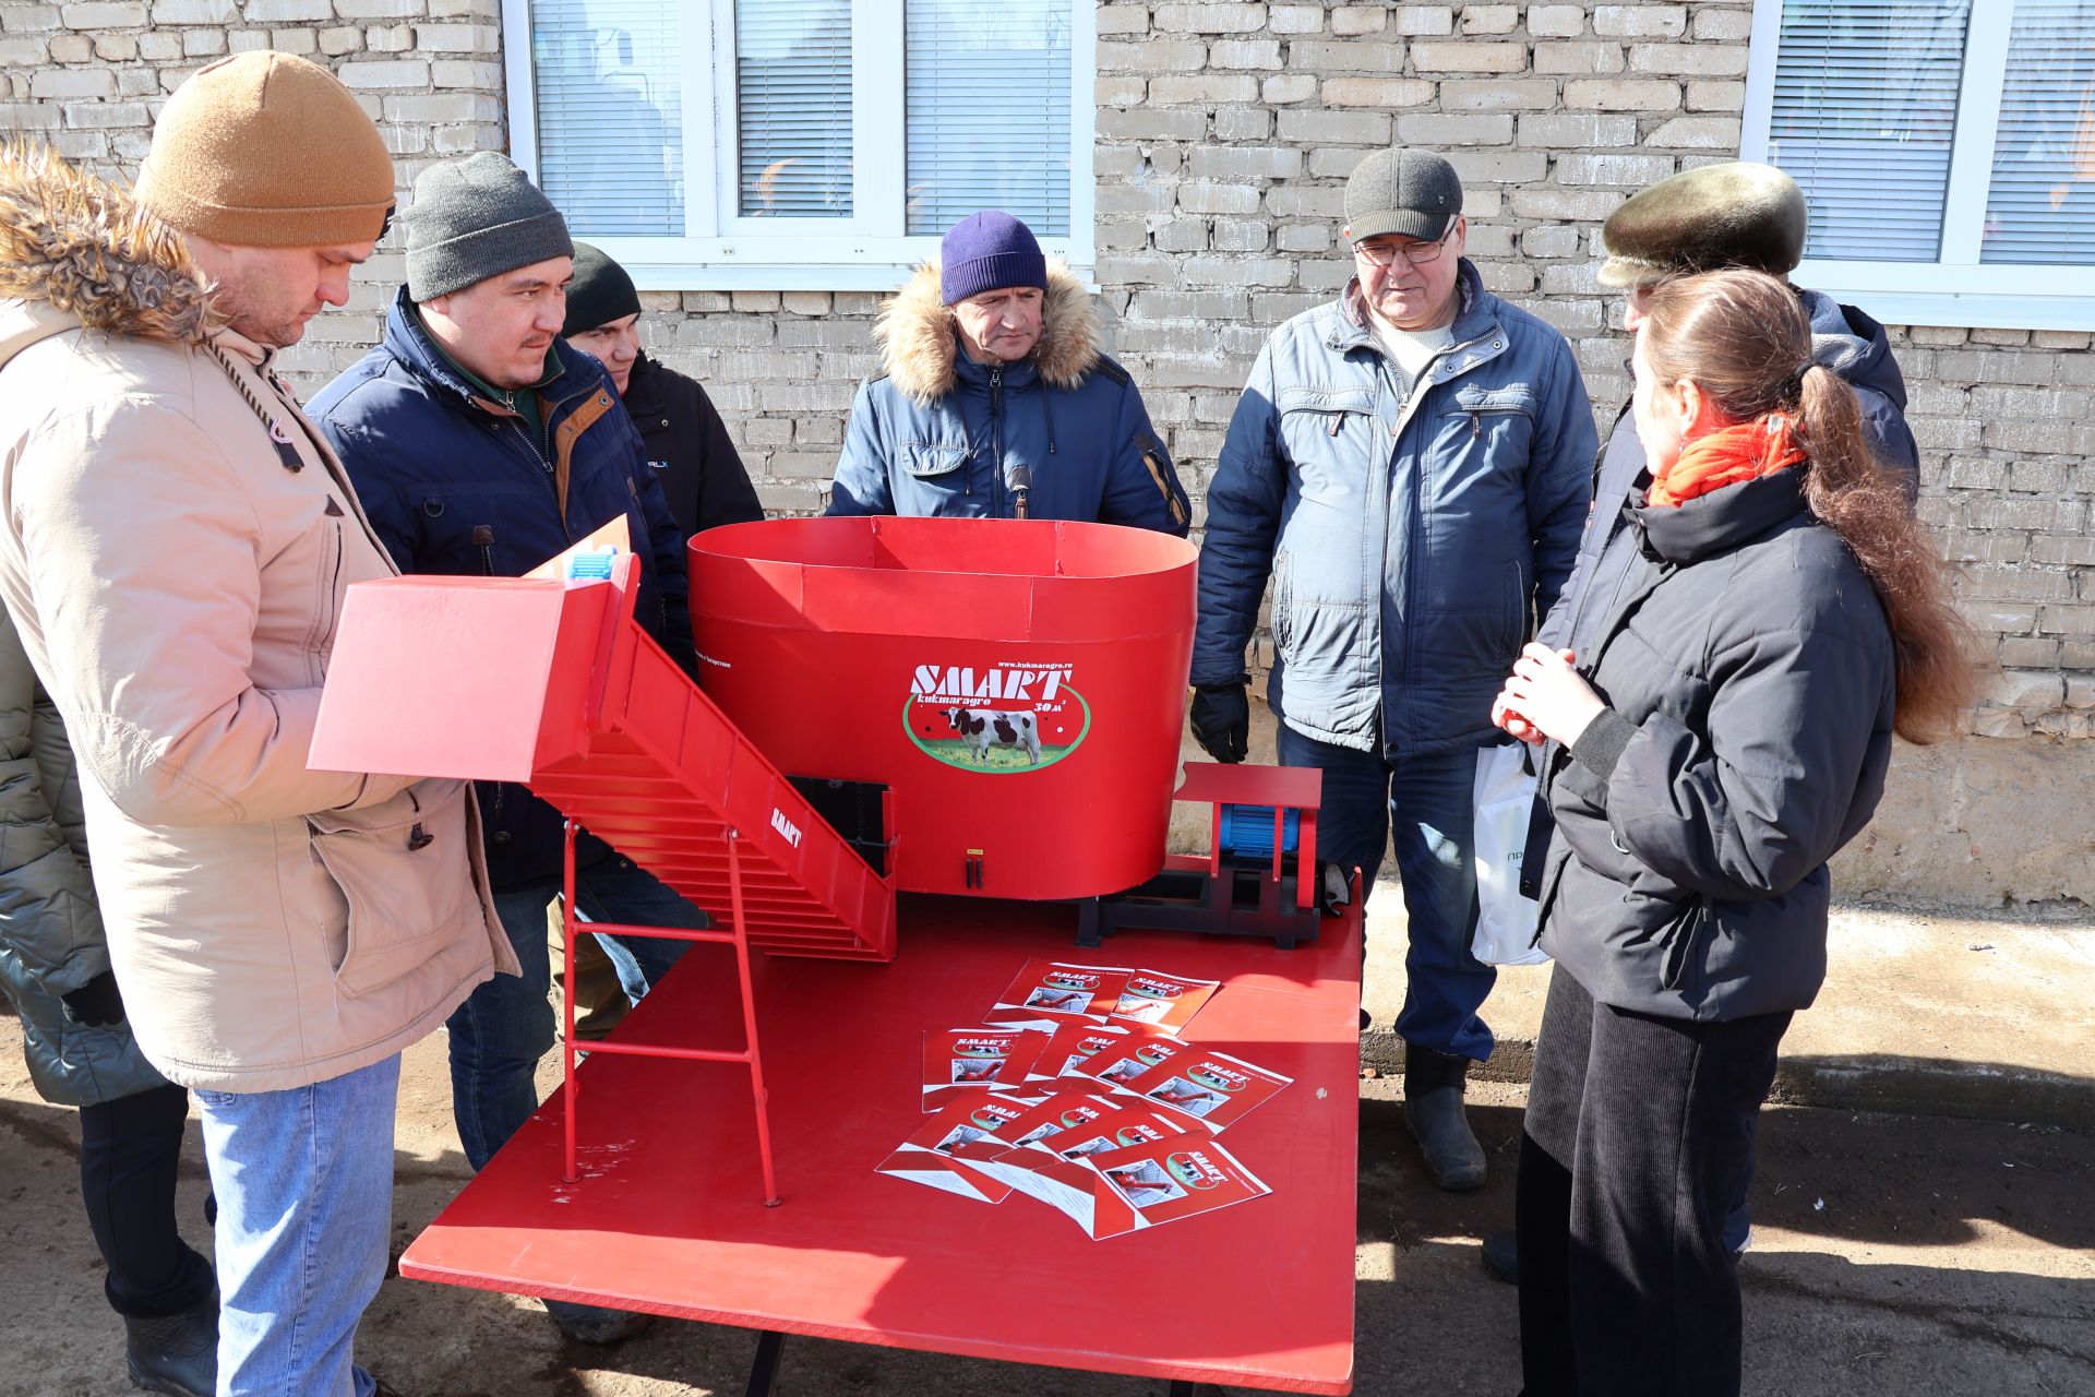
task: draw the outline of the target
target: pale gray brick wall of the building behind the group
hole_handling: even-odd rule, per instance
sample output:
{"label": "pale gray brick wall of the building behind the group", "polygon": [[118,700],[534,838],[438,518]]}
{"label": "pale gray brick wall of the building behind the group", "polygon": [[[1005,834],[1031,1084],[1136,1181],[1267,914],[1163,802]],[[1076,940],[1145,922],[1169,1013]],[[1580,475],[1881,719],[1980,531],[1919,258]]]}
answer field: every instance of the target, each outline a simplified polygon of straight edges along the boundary
{"label": "pale gray brick wall of the building behind the group", "polygon": [[[1263,333],[1349,274],[1337,239],[1368,151],[1446,151],[1485,283],[1580,350],[1603,423],[1628,383],[1596,228],[1674,170],[1739,149],[1751,4],[1098,6],[1098,283],[1115,352],[1194,496]],[[128,174],[197,65],[277,46],[329,63],[381,121],[402,189],[429,159],[501,149],[494,0],[0,4],[0,128]],[[400,276],[381,253],[350,312],[291,356],[318,385],[371,343]],[[649,293],[649,348],[721,404],[773,509],[817,509],[878,297]],[[2005,666],[1973,731],[2095,735],[2095,352],[2087,333],[1894,329],[1923,511]],[[2085,857],[2085,850],[2080,850]]]}

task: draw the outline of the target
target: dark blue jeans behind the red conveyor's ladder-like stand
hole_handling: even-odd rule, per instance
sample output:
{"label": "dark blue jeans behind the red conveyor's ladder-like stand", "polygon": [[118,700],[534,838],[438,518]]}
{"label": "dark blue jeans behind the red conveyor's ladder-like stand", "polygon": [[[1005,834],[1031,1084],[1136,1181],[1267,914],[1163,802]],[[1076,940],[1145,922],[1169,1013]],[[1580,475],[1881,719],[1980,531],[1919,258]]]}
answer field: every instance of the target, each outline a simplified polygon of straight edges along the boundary
{"label": "dark blue jeans behind the red conveyor's ladder-like stand", "polygon": [[[465,1162],[484,1169],[494,1152],[538,1110],[538,1060],[553,1047],[553,961],[545,947],[545,909],[559,894],[547,875],[494,894],[522,976],[494,976],[450,1016],[450,1110]],[[706,926],[706,913],[683,901],[631,859],[601,859],[574,873],[574,896],[593,922],[633,926]],[[689,943],[656,936],[597,936],[626,995],[658,982]],[[614,949],[616,947],[616,949]],[[624,953],[624,955],[620,955]],[[629,978],[631,957],[635,978]]]}

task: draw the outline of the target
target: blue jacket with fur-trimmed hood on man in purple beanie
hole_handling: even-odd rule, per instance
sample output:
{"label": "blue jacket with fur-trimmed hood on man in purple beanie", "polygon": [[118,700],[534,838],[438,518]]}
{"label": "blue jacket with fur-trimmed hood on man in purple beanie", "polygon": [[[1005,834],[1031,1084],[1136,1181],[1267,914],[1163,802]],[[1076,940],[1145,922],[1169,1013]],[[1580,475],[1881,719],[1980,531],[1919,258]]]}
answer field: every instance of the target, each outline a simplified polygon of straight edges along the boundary
{"label": "blue jacket with fur-trimmed hood on man in purple beanie", "polygon": [[859,385],[830,490],[834,515],[1029,517],[1133,524],[1186,536],[1186,490],[1133,379],[1100,352],[1098,314],[1060,266],[1048,274],[1031,358],[960,352],[939,268],[911,276],[880,316],[884,371]]}

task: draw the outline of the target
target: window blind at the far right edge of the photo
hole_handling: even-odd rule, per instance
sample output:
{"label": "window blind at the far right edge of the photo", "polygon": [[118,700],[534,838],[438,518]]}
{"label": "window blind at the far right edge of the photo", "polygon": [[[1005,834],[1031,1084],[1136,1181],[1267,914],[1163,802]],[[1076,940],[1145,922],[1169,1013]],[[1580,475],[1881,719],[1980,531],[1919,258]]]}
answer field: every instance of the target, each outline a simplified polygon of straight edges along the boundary
{"label": "window blind at the far right edge of the photo", "polygon": [[2095,0],[2017,0],[1980,262],[2095,266]]}

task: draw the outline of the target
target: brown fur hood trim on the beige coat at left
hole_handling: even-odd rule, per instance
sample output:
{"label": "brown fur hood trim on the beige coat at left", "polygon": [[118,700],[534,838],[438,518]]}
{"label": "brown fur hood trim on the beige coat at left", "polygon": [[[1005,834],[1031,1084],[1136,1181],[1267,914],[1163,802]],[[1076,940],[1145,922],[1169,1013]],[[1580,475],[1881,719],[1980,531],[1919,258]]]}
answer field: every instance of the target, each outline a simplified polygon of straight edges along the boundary
{"label": "brown fur hood trim on the beige coat at left", "polygon": [[218,325],[182,235],[42,142],[0,140],[0,300],[134,339],[201,343]]}

